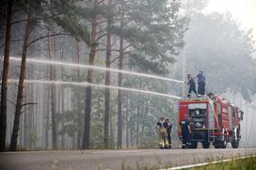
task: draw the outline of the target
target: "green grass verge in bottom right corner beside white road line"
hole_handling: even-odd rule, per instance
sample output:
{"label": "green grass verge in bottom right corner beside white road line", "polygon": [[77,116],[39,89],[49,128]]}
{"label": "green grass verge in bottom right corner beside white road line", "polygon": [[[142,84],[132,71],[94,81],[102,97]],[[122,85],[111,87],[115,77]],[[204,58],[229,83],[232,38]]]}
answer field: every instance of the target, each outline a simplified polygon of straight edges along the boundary
{"label": "green grass verge in bottom right corner beside white road line", "polygon": [[256,157],[244,159],[232,159],[230,162],[217,162],[200,167],[189,168],[187,170],[256,170]]}

